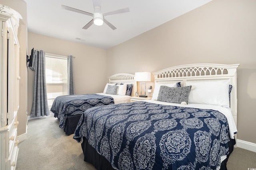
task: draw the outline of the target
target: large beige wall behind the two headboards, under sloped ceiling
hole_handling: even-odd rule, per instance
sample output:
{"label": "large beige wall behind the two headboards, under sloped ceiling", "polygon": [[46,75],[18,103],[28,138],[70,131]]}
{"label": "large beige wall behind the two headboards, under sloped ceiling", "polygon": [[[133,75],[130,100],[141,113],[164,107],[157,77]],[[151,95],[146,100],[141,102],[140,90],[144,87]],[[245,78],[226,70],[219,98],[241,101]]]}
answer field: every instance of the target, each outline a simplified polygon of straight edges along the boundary
{"label": "large beige wall behind the two headboards, under sloped ceiling", "polygon": [[108,49],[107,76],[193,63],[240,64],[237,137],[256,143],[255,19],[255,0],[213,0]]}

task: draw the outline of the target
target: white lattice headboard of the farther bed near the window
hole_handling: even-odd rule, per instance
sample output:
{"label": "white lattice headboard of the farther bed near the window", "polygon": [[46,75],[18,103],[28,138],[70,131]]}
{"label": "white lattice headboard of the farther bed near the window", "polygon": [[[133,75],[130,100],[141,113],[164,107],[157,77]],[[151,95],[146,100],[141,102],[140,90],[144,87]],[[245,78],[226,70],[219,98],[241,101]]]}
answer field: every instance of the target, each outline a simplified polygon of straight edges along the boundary
{"label": "white lattice headboard of the farther bed near the window", "polygon": [[116,84],[116,83],[133,84],[131,96],[135,96],[135,89],[137,89],[137,84],[135,83],[135,74],[128,74],[128,73],[114,74],[108,77],[108,81],[110,84]]}

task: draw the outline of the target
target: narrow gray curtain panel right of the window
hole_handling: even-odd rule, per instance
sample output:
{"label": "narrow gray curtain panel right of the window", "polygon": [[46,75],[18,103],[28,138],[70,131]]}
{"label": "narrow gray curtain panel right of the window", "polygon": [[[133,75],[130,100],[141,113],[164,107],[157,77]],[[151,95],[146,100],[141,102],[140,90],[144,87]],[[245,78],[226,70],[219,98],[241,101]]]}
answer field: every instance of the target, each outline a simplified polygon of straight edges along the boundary
{"label": "narrow gray curtain panel right of the window", "polygon": [[68,56],[68,95],[75,94],[73,56]]}

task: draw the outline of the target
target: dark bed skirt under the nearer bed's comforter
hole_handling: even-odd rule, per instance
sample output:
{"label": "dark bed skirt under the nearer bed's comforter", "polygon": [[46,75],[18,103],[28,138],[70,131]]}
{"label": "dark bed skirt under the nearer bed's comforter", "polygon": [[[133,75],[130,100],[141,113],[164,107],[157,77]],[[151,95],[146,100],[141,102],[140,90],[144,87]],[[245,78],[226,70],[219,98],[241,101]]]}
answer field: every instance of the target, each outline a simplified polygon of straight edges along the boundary
{"label": "dark bed skirt under the nearer bed's comforter", "polygon": [[[227,158],[222,161],[220,170],[227,170],[227,162],[228,162],[228,157],[234,150],[234,145],[236,144],[235,139],[231,139],[228,142],[228,147],[229,147],[229,154]],[[106,160],[103,156],[98,154],[98,152],[88,143],[88,140],[83,137],[83,143],[81,143],[82,150],[84,152],[84,161],[91,163],[97,170],[115,170],[110,162]]]}

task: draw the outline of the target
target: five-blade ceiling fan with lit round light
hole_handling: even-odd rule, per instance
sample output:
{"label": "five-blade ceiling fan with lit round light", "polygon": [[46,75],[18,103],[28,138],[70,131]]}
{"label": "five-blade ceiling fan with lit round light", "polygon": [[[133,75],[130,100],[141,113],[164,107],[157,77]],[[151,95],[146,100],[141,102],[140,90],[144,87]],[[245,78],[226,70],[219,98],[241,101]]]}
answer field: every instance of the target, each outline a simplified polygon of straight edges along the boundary
{"label": "five-blade ceiling fan with lit round light", "polygon": [[100,6],[100,0],[93,0],[93,6],[94,6],[94,14],[90,13],[90,12],[85,12],[82,10],[78,10],[76,8],[71,8],[69,6],[65,6],[65,5],[61,5],[63,9],[65,10],[70,10],[73,12],[78,12],[80,14],[85,14],[88,16],[92,16],[93,19],[88,22],[83,29],[87,29],[89,28],[93,23],[95,25],[102,25],[103,22],[106,23],[110,28],[112,28],[113,30],[116,29],[116,27],[114,25],[112,25],[110,22],[108,22],[104,16],[109,16],[109,15],[114,15],[114,14],[120,14],[120,13],[124,13],[124,12],[130,12],[129,8],[124,8],[124,9],[120,9],[120,10],[116,10],[116,11],[111,11],[111,12],[104,12],[101,13],[101,6]]}

